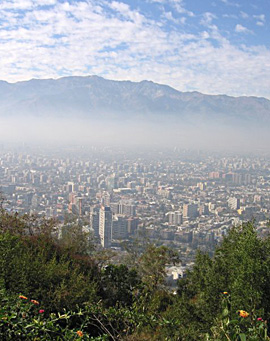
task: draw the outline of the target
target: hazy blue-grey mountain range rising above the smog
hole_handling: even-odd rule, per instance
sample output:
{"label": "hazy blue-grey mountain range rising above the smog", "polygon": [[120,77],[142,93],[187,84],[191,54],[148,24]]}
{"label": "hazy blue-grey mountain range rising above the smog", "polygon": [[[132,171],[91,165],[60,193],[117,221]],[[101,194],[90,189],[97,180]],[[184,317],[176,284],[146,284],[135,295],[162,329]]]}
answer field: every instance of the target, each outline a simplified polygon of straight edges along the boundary
{"label": "hazy blue-grey mountain range rising above the smog", "polygon": [[180,92],[152,81],[114,81],[98,76],[0,81],[0,117],[16,116],[269,123],[270,101]]}

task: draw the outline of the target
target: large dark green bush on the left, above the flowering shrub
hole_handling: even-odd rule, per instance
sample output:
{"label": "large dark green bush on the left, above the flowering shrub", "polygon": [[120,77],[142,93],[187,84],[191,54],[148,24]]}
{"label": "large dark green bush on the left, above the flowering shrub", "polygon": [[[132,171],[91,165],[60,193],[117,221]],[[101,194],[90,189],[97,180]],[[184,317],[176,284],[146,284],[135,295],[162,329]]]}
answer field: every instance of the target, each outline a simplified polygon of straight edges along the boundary
{"label": "large dark green bush on the left, above the flowering shrub", "polygon": [[[5,213],[7,226],[8,216],[11,225],[20,220],[16,214]],[[51,311],[97,301],[99,270],[95,261],[61,248],[46,225],[39,226],[34,235],[28,233],[28,228],[23,232],[25,221],[24,216],[18,230],[12,225],[10,230],[3,228],[0,234],[2,286],[10,293],[23,292],[43,299],[44,306]]]}

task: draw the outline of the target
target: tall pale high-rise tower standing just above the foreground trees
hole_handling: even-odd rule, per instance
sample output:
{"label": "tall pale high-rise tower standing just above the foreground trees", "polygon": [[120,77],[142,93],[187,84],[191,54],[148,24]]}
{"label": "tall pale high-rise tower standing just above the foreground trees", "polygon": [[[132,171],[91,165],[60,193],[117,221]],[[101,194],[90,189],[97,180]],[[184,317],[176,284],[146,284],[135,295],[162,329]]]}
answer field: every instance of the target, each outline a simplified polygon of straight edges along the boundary
{"label": "tall pale high-rise tower standing just above the foreground trees", "polygon": [[99,210],[99,237],[104,248],[109,248],[112,242],[112,211],[108,206]]}

